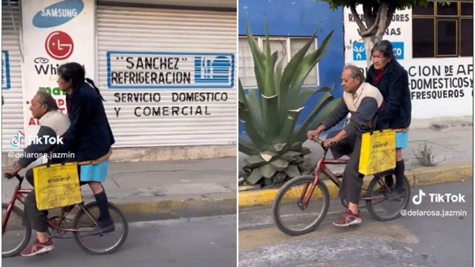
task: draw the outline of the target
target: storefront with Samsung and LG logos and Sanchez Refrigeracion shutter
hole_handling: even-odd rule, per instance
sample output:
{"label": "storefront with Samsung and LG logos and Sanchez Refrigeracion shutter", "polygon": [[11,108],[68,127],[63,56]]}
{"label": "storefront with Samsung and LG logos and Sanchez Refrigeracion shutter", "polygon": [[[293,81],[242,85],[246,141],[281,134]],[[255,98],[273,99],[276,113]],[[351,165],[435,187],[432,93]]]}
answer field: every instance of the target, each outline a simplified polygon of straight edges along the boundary
{"label": "storefront with Samsung and LG logos and Sanchez Refrigeracion shutter", "polygon": [[[17,131],[36,133],[28,108],[38,89],[48,90],[66,114],[57,67],[72,61],[85,66],[105,98],[115,147],[236,144],[236,2],[150,3],[22,1],[21,69],[29,79],[15,84],[16,117],[10,116],[12,130],[3,130],[4,151],[21,148],[10,144]],[[19,72],[19,60],[15,66]]]}

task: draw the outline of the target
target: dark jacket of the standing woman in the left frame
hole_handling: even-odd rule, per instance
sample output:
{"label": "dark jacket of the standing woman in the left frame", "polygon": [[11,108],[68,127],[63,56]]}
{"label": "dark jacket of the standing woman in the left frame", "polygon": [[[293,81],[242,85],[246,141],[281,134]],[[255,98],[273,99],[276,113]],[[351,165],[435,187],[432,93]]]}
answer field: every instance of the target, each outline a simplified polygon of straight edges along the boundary
{"label": "dark jacket of the standing woman in the left frame", "polygon": [[66,106],[71,126],[62,135],[63,145],[58,145],[55,152],[74,153],[78,162],[106,155],[115,140],[99,93],[83,83],[66,95]]}

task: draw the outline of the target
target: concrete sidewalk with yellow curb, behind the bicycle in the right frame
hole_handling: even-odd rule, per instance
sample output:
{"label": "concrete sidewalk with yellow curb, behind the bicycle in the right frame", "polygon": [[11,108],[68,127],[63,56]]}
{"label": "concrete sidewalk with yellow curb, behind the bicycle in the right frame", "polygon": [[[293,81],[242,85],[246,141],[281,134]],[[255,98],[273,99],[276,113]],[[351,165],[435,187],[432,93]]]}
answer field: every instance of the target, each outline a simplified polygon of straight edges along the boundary
{"label": "concrete sidewalk with yellow curb, behind the bicycle in the right frame", "polygon": [[[411,185],[425,185],[471,179],[473,177],[474,128],[454,127],[443,130],[414,129],[409,132],[408,149],[403,151],[406,176]],[[414,153],[424,143],[432,150],[435,167],[422,167]],[[307,141],[304,143],[312,153],[309,158],[315,164],[322,155],[320,145]],[[242,154],[240,154],[241,156]],[[243,160],[239,158],[239,161]],[[342,174],[344,166],[328,166],[335,174]],[[365,182],[372,177],[366,177]],[[331,197],[336,197],[338,188],[332,182],[326,182]],[[270,205],[279,188],[253,189],[239,192],[239,207]]]}

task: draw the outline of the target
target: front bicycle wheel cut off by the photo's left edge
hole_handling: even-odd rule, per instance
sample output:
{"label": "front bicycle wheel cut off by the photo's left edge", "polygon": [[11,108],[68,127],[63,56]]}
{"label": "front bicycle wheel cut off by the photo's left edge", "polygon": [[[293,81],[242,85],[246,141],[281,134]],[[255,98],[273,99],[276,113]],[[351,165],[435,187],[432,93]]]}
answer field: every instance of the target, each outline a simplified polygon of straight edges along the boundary
{"label": "front bicycle wheel cut off by the photo's left edge", "polygon": [[[1,218],[6,216],[8,204],[1,203]],[[1,229],[1,257],[18,255],[30,242],[31,228],[23,225],[24,214],[17,206],[13,206],[5,229]]]}

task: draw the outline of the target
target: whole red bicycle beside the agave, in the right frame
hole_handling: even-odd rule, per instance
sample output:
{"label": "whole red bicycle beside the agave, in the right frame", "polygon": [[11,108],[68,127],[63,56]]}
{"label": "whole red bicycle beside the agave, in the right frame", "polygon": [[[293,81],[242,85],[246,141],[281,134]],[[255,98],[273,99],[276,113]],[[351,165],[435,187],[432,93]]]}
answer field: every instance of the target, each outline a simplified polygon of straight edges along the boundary
{"label": "whole red bicycle beside the agave, in the right frame", "polygon": [[[330,205],[330,194],[322,176],[328,177],[337,187],[341,181],[326,165],[346,164],[348,160],[326,159],[328,149],[323,146],[322,140],[315,140],[323,149],[324,154],[318,160],[314,175],[303,175],[287,181],[277,193],[272,204],[274,222],[279,230],[289,235],[300,235],[311,232],[322,223]],[[322,175],[323,174],[323,175]],[[378,221],[390,221],[401,216],[400,212],[407,208],[411,196],[408,179],[404,176],[405,194],[402,198],[389,201],[387,195],[391,192],[388,184],[395,184],[394,170],[376,174],[367,188],[363,185],[362,191],[366,196],[360,200],[366,202],[371,216]],[[392,179],[392,183],[387,183]],[[342,199],[343,206],[348,203]]]}

